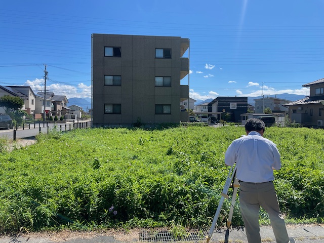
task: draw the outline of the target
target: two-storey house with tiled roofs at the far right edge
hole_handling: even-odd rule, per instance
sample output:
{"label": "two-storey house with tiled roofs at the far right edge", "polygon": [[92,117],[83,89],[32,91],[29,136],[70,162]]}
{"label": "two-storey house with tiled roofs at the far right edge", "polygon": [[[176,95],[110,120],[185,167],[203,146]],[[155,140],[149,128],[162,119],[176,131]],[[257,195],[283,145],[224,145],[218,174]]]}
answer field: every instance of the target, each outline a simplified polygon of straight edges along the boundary
{"label": "two-storey house with tiled roofs at the far right edge", "polygon": [[309,96],[284,104],[289,109],[289,118],[304,126],[322,127],[324,120],[324,78],[307,83],[303,87],[309,88]]}

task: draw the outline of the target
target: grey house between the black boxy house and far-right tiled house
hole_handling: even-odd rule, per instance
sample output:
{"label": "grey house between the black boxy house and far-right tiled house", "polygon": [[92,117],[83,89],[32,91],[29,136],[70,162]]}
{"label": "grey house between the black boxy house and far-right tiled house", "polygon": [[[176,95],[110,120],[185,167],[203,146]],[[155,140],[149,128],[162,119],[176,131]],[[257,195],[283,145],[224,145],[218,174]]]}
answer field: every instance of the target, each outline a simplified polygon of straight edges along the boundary
{"label": "grey house between the black boxy house and far-right tiled house", "polygon": [[279,99],[275,97],[264,97],[255,99],[255,113],[263,113],[265,108],[270,108],[272,113],[287,113],[288,107],[282,106],[291,102],[290,100]]}

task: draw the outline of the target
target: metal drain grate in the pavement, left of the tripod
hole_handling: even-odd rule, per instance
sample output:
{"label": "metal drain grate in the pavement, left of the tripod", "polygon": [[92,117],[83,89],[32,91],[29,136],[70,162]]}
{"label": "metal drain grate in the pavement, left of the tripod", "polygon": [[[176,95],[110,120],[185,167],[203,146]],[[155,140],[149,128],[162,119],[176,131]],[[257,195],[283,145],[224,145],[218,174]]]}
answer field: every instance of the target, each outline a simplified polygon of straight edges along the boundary
{"label": "metal drain grate in the pavement, left of the tripod", "polygon": [[206,231],[187,231],[181,236],[175,236],[169,230],[142,230],[140,241],[145,242],[170,242],[170,241],[199,241],[206,240]]}

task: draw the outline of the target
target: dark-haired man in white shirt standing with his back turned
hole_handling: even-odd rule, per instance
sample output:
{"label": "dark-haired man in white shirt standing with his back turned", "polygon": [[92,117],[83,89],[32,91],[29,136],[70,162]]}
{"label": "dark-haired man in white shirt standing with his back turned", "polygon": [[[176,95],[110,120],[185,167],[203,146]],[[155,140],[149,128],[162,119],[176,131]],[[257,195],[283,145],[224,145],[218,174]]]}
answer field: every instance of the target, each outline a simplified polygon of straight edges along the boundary
{"label": "dark-haired man in white shirt standing with his back turned", "polygon": [[269,214],[277,243],[295,242],[289,238],[285,220],[273,185],[273,170],[281,168],[276,145],[263,137],[265,124],[257,118],[248,119],[246,136],[234,140],[225,153],[225,165],[236,163],[240,182],[239,204],[249,243],[261,243],[260,206]]}

